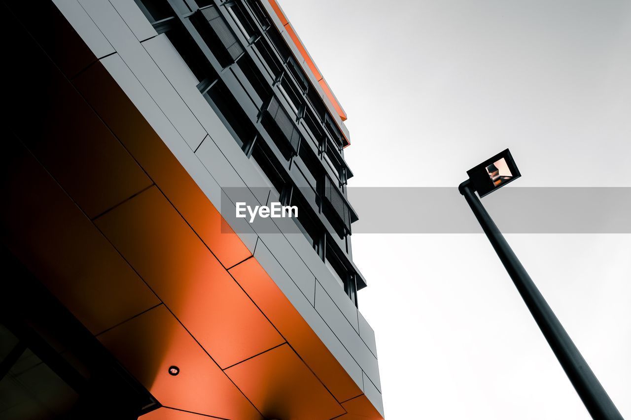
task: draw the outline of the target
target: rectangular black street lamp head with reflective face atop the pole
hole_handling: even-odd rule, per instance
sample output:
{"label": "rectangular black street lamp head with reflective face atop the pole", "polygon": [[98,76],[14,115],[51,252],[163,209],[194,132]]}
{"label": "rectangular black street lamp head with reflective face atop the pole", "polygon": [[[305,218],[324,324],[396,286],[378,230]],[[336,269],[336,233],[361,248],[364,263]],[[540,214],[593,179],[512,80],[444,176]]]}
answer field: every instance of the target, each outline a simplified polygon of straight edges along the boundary
{"label": "rectangular black street lamp head with reflective face atop the pole", "polygon": [[469,169],[467,175],[480,198],[521,177],[509,149]]}

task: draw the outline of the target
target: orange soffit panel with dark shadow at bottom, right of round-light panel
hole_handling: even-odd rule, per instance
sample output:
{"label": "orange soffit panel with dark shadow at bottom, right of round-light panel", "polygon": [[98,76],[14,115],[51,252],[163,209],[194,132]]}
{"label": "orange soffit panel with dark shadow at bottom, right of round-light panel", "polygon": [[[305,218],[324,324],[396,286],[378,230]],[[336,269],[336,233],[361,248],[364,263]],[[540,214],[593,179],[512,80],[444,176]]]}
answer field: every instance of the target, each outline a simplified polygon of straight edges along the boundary
{"label": "orange soffit panel with dark shadow at bottom, right of round-light panel", "polygon": [[287,344],[225,370],[268,419],[331,419],[345,411]]}

